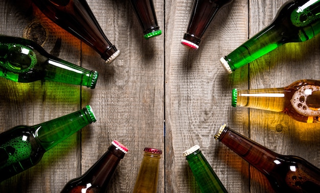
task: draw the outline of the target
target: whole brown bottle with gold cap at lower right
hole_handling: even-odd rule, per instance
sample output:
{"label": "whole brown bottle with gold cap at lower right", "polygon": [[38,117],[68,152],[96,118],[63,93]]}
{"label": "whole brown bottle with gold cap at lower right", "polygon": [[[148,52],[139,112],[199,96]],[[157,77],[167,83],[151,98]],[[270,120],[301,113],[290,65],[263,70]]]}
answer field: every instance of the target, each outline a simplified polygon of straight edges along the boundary
{"label": "whole brown bottle with gold cap at lower right", "polygon": [[223,124],[215,139],[256,167],[276,192],[315,192],[320,169],[298,156],[277,154]]}

